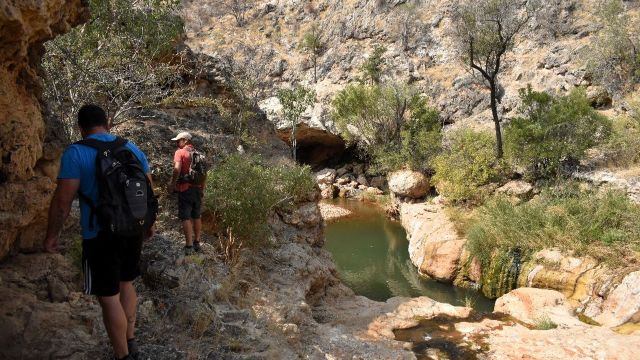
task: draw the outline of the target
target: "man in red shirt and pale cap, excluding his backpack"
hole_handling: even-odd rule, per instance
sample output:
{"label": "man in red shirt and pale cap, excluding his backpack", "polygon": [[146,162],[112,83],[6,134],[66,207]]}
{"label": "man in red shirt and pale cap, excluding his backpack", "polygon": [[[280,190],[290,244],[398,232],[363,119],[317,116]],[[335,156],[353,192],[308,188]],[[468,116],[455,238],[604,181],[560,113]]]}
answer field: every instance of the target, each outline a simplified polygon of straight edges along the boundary
{"label": "man in red shirt and pale cap, excluding his backpack", "polygon": [[171,139],[176,142],[178,150],[173,156],[173,176],[169,183],[169,193],[178,193],[178,218],[182,220],[185,236],[185,255],[200,251],[200,233],[202,221],[200,207],[204,195],[203,186],[184,180],[189,174],[191,156],[194,151],[191,134],[184,131]]}

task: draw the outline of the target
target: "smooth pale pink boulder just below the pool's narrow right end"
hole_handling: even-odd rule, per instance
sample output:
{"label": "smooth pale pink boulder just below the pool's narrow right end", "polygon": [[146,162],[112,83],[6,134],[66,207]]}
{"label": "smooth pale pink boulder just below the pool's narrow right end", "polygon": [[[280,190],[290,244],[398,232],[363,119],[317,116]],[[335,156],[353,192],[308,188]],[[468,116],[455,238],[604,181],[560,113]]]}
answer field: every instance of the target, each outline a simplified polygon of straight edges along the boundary
{"label": "smooth pale pink boulder just below the pool's narrow right end", "polygon": [[555,290],[518,288],[496,300],[495,312],[513,316],[530,325],[550,321],[559,327],[586,326],[573,315],[567,298]]}

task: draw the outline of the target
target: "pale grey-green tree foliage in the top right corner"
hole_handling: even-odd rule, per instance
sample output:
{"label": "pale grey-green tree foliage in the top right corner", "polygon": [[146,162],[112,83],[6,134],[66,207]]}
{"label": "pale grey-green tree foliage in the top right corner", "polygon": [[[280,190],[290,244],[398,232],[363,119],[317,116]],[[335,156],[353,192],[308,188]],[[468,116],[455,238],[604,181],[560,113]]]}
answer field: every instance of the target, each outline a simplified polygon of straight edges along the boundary
{"label": "pale grey-green tree foliage in the top right corner", "polygon": [[601,2],[595,15],[602,28],[585,51],[587,71],[609,91],[627,91],[640,81],[640,17],[622,0]]}

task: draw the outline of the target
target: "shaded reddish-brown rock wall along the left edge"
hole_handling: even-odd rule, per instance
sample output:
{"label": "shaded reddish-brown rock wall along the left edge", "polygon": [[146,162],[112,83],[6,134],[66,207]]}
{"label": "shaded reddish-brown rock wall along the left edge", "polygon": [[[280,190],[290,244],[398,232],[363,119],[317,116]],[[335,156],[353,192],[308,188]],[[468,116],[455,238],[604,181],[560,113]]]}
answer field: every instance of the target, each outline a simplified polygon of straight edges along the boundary
{"label": "shaded reddish-brown rock wall along the left edge", "polygon": [[60,127],[40,103],[42,43],[88,15],[82,0],[0,6],[0,258],[39,246],[63,148]]}

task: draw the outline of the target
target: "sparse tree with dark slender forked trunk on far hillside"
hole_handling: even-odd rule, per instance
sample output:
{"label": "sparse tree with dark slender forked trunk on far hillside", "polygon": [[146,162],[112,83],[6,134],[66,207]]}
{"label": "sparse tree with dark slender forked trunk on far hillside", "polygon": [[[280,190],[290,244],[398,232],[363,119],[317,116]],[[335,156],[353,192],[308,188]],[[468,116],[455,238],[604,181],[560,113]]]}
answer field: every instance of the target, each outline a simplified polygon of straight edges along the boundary
{"label": "sparse tree with dark slender forked trunk on far hillside", "polygon": [[498,103],[501,99],[498,75],[507,52],[513,49],[515,37],[533,15],[531,1],[462,0],[453,14],[455,34],[462,61],[478,71],[490,91],[491,114],[496,132],[496,156],[502,158],[502,133]]}

